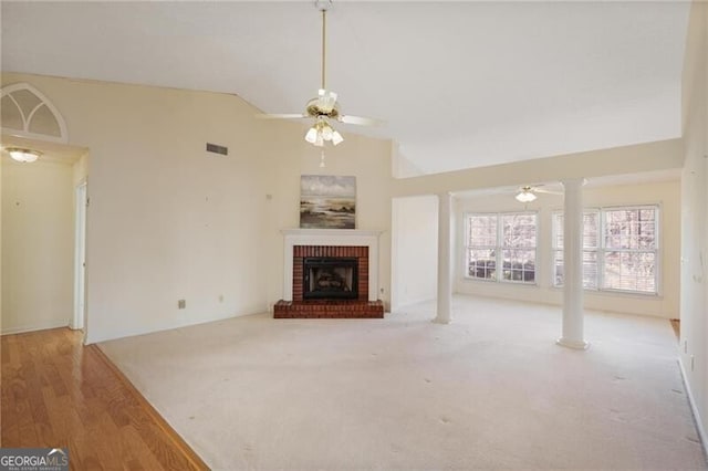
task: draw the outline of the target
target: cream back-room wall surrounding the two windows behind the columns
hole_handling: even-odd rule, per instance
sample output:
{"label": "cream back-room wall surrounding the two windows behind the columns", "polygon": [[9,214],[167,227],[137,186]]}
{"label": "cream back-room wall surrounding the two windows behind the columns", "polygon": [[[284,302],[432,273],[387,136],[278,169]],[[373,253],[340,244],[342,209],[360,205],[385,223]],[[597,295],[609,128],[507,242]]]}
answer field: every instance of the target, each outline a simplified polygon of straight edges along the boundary
{"label": "cream back-room wall surrounding the two windows behind the columns", "polygon": [[[552,227],[553,211],[563,209],[563,197],[539,195],[539,198],[527,206],[513,198],[514,193],[488,195],[478,198],[466,198],[457,201],[457,233],[460,243],[456,255],[455,290],[459,293],[498,296],[540,303],[561,305],[562,290],[553,287],[552,273]],[[631,295],[586,290],[584,306],[592,310],[614,311],[632,314],[648,314],[666,318],[679,315],[679,244],[680,244],[680,186],[678,181],[655,182],[645,185],[625,185],[614,187],[587,188],[583,191],[587,208],[633,205],[660,205],[660,295]],[[465,278],[465,212],[493,211],[538,211],[538,259],[537,285],[496,283]]]}

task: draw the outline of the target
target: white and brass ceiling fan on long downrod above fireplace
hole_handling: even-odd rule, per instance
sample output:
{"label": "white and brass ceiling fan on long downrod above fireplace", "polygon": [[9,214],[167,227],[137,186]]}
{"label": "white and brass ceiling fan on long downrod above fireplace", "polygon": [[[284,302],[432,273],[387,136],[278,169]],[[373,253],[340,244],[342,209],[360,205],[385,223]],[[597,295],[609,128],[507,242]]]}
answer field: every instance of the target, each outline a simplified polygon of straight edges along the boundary
{"label": "white and brass ceiling fan on long downrod above fireplace", "polygon": [[304,113],[294,114],[263,114],[262,118],[280,119],[313,119],[312,127],[305,134],[305,140],[314,146],[323,147],[326,142],[337,145],[344,137],[332,126],[336,121],[345,124],[356,125],[379,125],[381,121],[361,116],[343,115],[336,101],[337,94],[326,87],[326,14],[332,6],[332,0],[315,0],[314,6],[322,12],[322,86],[317,91],[317,96],[310,100],[305,105]]}

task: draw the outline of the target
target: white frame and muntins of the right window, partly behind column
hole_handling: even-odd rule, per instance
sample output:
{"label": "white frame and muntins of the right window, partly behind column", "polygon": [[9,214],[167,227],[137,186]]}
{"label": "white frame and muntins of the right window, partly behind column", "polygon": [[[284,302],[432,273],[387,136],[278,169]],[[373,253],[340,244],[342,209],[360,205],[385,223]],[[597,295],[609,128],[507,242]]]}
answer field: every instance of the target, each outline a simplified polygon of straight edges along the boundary
{"label": "white frame and muntins of the right window, partly behind column", "polygon": [[[642,210],[642,209],[653,209],[654,210],[654,249],[608,249],[605,240],[605,229],[606,229],[606,214],[608,211],[632,211],[632,210]],[[618,294],[628,294],[628,295],[638,295],[638,296],[656,296],[659,297],[663,295],[663,266],[662,266],[662,258],[663,258],[663,245],[662,245],[662,205],[660,203],[646,203],[646,205],[617,205],[617,206],[606,206],[606,207],[596,207],[596,208],[584,208],[583,213],[586,212],[597,212],[598,214],[598,224],[597,224],[597,247],[595,249],[596,259],[597,259],[597,287],[585,287],[585,291],[592,291],[596,293],[618,293]],[[558,284],[555,282],[555,253],[559,251],[556,248],[556,236],[558,228],[555,224],[555,214],[563,214],[564,211],[562,209],[552,211],[551,213],[551,276],[552,276],[552,286],[556,289],[562,289],[563,284]],[[561,249],[562,250],[562,249]],[[592,251],[590,249],[583,248],[583,251]],[[623,253],[654,253],[654,286],[655,290],[653,292],[649,291],[637,291],[637,290],[623,290],[617,287],[604,287],[605,284],[605,255],[608,252],[623,252]]]}

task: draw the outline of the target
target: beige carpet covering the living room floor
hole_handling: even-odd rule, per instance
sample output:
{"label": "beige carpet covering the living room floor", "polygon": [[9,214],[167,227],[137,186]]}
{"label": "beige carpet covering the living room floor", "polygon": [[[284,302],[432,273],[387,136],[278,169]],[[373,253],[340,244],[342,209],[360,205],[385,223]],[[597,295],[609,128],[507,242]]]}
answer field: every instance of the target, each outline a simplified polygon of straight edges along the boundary
{"label": "beige carpet covering the living room floor", "polygon": [[456,296],[385,320],[239,317],[101,345],[215,469],[706,469],[668,321]]}

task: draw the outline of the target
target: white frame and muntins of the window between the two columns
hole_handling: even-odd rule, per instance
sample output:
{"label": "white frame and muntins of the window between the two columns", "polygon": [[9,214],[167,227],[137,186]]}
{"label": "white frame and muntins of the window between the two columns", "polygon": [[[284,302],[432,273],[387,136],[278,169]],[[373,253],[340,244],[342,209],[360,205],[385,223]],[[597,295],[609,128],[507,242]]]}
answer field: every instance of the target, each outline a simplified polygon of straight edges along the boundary
{"label": "white frame and muntins of the window between the two columns", "polygon": [[[493,216],[497,218],[497,240],[496,245],[469,245],[470,241],[470,224],[469,218],[480,216],[480,217],[490,217]],[[514,250],[514,248],[508,248],[503,245],[503,227],[502,219],[504,216],[533,216],[533,222],[535,227],[535,243],[533,248],[517,248],[518,250],[529,250],[533,251],[533,281],[523,281],[523,280],[506,280],[503,278],[503,251],[504,250]],[[523,286],[539,286],[539,236],[540,236],[540,226],[539,226],[539,211],[466,211],[464,214],[465,221],[465,253],[464,253],[464,262],[462,262],[462,276],[465,280],[470,281],[479,281],[487,283],[509,283],[516,285]],[[470,250],[492,250],[494,251],[494,278],[478,278],[470,276],[469,274],[469,253]],[[523,273],[523,271],[522,271]],[[501,276],[500,276],[501,274]]]}

